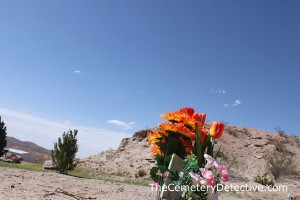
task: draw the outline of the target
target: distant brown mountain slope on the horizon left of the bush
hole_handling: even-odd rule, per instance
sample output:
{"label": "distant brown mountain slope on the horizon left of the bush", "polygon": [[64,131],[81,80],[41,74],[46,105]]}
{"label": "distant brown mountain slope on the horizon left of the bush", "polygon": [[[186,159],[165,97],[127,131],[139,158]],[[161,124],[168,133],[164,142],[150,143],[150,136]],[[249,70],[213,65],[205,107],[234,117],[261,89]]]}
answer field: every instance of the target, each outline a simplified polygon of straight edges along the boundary
{"label": "distant brown mountain slope on the horizon left of the bush", "polygon": [[6,148],[14,148],[29,152],[36,163],[43,163],[45,160],[51,159],[51,151],[45,149],[33,142],[21,141],[14,137],[6,137]]}

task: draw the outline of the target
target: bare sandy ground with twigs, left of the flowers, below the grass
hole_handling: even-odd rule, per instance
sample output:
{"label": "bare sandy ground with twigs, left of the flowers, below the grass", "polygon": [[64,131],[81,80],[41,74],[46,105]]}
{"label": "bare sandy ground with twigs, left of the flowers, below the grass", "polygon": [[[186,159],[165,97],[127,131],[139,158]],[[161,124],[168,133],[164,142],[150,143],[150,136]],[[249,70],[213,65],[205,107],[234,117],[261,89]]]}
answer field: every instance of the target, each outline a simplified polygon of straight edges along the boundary
{"label": "bare sandy ground with twigs, left of the flowers, below the grass", "polygon": [[[155,199],[150,187],[102,180],[82,179],[55,172],[32,172],[0,168],[1,200],[74,200],[71,196],[55,192],[58,188],[81,197],[102,199]],[[84,198],[83,198],[84,199]]]}

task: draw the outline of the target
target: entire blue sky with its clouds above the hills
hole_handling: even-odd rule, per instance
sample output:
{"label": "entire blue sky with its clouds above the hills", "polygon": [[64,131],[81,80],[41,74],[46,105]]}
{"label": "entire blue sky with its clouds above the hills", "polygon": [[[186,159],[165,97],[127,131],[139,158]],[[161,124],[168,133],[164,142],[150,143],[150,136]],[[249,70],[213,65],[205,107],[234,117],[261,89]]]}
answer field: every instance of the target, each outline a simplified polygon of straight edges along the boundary
{"label": "entire blue sky with its clouds above the hills", "polygon": [[0,1],[0,115],[79,156],[181,107],[212,121],[299,135],[300,2]]}

